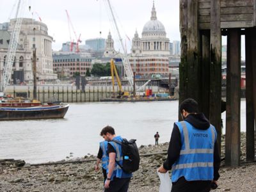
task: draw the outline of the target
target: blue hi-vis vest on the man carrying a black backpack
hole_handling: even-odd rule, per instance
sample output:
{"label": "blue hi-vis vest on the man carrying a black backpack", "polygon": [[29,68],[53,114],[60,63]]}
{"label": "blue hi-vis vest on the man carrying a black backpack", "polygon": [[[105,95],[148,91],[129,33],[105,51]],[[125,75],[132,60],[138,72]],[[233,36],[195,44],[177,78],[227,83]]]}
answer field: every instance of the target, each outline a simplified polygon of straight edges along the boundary
{"label": "blue hi-vis vest on the man carrying a black backpack", "polygon": [[[113,138],[113,140],[122,142],[123,138],[121,136],[116,136],[115,138]],[[114,141],[109,141],[109,143],[114,147],[116,151],[116,161],[122,166],[123,165],[122,145],[115,143]],[[107,170],[107,173],[108,173],[108,170]],[[122,168],[120,168],[120,166],[117,163],[115,163],[115,168],[111,175],[111,180],[113,180],[114,177],[129,178],[129,177],[132,177],[132,173],[125,173],[122,170]]]}

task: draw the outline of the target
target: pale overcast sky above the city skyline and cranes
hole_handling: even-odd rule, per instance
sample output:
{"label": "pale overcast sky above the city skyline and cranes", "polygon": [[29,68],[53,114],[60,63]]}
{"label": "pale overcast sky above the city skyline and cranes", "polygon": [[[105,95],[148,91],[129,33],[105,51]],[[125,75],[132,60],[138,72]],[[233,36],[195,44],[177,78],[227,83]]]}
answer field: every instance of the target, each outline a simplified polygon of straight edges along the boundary
{"label": "pale overcast sky above the city skyline and cranes", "polygon": [[[109,31],[113,34],[115,42],[118,39],[113,20],[109,19],[109,8],[106,0],[23,0],[24,17],[34,18],[47,24],[49,35],[53,36],[52,49],[58,51],[63,42],[70,41],[68,33],[67,14],[74,26],[77,36],[81,34],[81,40],[101,37],[107,38]],[[110,0],[113,6],[116,20],[122,38],[127,47],[131,46],[134,32],[137,29],[139,35],[144,24],[150,20],[153,0]],[[0,0],[0,23],[8,21],[15,15],[17,0]],[[31,6],[29,12],[28,6]],[[180,40],[179,33],[179,0],[155,0],[157,19],[166,29],[166,36],[170,41]],[[31,13],[34,12],[32,15]],[[10,16],[11,15],[11,16]],[[72,32],[72,29],[71,29]],[[74,33],[72,39],[76,39]],[[126,37],[127,36],[127,37]],[[117,43],[116,43],[117,44]],[[118,45],[116,45],[118,46]]]}

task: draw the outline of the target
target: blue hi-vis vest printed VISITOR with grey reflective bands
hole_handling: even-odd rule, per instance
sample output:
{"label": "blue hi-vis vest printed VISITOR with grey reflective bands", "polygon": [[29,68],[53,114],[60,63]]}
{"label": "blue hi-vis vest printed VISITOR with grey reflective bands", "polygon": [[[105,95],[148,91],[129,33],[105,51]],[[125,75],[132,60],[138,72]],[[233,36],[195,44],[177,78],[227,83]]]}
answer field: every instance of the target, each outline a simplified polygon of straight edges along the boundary
{"label": "blue hi-vis vest printed VISITOR with grey reflective bands", "polygon": [[186,180],[212,180],[213,154],[217,132],[213,125],[207,130],[195,129],[186,121],[179,127],[182,147],[179,159],[172,166],[172,182],[180,177]]}

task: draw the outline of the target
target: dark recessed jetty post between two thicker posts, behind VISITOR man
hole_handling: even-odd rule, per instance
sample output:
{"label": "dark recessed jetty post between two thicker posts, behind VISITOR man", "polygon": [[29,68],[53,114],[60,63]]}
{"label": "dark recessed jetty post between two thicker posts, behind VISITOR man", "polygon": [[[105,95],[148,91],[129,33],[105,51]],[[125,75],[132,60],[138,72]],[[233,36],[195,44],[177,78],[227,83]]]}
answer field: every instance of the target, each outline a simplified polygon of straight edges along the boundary
{"label": "dark recessed jetty post between two thicker posts, behind VISITOR man", "polygon": [[198,104],[200,106],[200,112],[209,119],[209,94],[210,94],[210,31],[201,31],[201,52],[202,62],[200,65],[201,80],[200,86],[200,100]]}

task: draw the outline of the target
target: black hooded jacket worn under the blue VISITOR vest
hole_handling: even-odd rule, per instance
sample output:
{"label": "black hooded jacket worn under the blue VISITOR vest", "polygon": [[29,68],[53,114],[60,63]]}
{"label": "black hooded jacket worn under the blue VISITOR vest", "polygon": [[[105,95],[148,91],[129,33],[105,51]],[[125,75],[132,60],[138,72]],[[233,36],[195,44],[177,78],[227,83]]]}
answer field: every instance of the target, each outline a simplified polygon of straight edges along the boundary
{"label": "black hooded jacket worn under the blue VISITOR vest", "polygon": [[[205,130],[208,129],[210,126],[209,120],[204,116],[203,113],[198,114],[191,114],[188,115],[185,119],[186,122],[189,122],[189,124],[193,125],[196,129]],[[163,166],[166,170],[171,170],[173,163],[177,161],[177,159],[180,156],[180,150],[181,150],[182,144],[181,144],[181,138],[180,138],[180,131],[176,124],[173,125],[173,131],[172,136],[170,140],[170,145],[168,148],[168,156],[166,161],[164,162]],[[220,177],[219,174],[219,168],[220,168],[220,153],[218,149],[218,143],[217,140],[214,143],[214,180],[218,180]]]}

